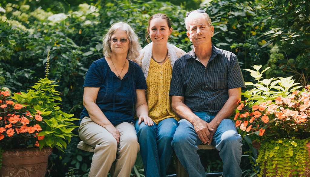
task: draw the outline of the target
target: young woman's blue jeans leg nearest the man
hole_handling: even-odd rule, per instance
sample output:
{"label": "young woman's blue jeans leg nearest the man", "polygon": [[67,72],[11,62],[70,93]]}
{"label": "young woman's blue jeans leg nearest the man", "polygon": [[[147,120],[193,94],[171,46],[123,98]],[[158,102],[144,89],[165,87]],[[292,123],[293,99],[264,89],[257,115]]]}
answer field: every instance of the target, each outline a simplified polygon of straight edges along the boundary
{"label": "young woman's blue jeans leg nearest the man", "polygon": [[166,177],[173,152],[171,141],[178,125],[178,121],[174,118],[166,118],[160,121],[157,126],[157,148],[161,177]]}

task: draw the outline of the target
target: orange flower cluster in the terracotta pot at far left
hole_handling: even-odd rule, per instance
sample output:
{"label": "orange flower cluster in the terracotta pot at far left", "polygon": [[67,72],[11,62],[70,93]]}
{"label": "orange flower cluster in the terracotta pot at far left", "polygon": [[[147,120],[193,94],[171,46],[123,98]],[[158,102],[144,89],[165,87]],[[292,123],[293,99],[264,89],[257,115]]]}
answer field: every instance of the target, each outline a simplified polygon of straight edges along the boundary
{"label": "orange flower cluster in the terracotta pot at far left", "polygon": [[38,140],[42,140],[44,136],[38,136],[38,132],[42,130],[39,124],[43,124],[41,112],[36,110],[34,117],[27,107],[14,103],[9,100],[10,93],[2,91],[0,93],[0,145],[6,139],[16,138],[20,136],[23,139],[35,139],[35,146],[39,146]]}

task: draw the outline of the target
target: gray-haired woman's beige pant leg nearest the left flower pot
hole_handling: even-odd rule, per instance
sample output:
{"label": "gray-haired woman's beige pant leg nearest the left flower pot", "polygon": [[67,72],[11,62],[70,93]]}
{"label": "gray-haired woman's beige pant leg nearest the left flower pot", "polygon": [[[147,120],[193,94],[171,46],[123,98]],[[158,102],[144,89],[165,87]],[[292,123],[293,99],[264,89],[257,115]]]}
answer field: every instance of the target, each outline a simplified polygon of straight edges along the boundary
{"label": "gray-haired woman's beige pant leg nearest the left flower pot", "polygon": [[78,132],[83,142],[95,147],[88,177],[106,177],[116,159],[116,139],[89,117],[82,119]]}

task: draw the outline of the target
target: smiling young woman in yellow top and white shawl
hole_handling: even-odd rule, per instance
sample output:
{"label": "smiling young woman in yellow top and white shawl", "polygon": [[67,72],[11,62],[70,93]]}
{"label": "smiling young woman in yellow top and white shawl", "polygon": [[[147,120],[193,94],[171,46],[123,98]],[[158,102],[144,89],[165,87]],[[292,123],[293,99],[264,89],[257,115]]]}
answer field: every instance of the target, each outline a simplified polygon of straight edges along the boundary
{"label": "smiling young woman in yellow top and white shawl", "polygon": [[135,128],[147,177],[165,177],[173,147],[171,141],[179,117],[172,111],[169,87],[172,67],[185,52],[167,43],[172,27],[165,14],[152,15],[147,33],[152,42],[141,50],[136,62],[141,66],[147,83],[148,114],[154,126],[137,121]]}

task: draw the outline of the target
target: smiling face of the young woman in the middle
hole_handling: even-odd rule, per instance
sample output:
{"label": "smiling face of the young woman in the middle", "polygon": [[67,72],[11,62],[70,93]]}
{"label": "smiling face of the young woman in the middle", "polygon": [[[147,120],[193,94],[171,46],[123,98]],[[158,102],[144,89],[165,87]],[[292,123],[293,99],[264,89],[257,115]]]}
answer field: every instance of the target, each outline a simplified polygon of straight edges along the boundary
{"label": "smiling face of the young woman in the middle", "polygon": [[150,21],[148,33],[153,43],[157,45],[167,43],[168,36],[171,32],[172,28],[169,29],[165,19],[155,18]]}

